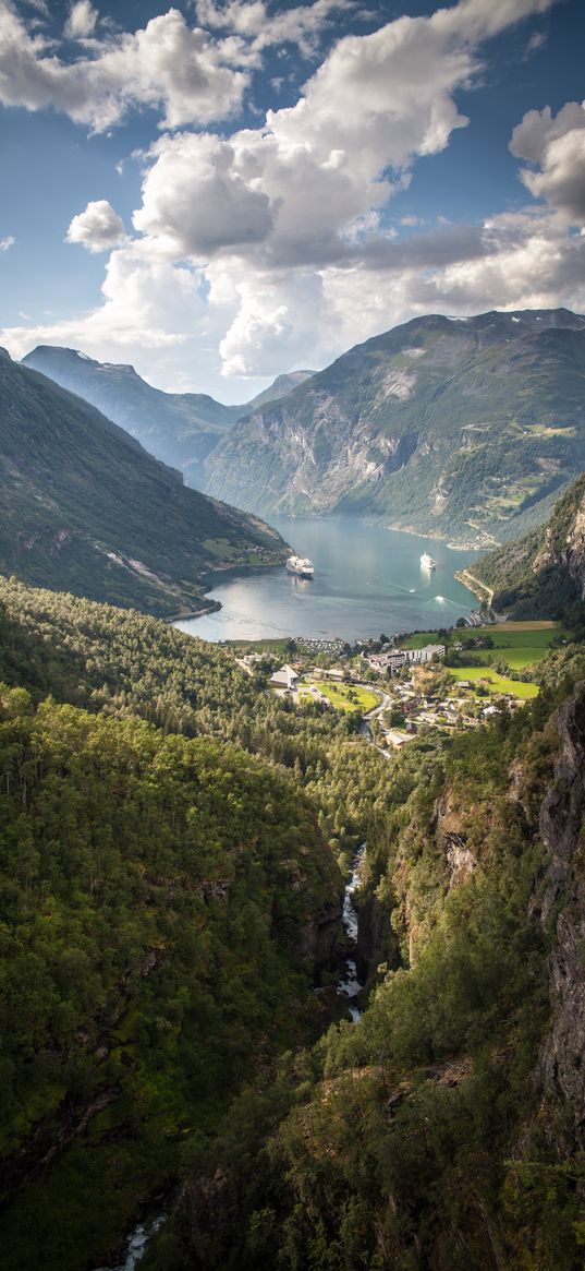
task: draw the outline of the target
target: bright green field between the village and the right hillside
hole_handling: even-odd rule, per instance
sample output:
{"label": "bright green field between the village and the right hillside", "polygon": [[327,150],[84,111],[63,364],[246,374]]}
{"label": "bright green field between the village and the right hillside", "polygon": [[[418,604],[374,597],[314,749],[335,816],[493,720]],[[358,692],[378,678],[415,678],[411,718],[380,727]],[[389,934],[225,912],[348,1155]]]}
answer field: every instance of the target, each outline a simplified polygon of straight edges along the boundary
{"label": "bright green field between the village and the right hillside", "polygon": [[[523,671],[525,666],[542,662],[555,637],[565,634],[560,624],[552,622],[501,623],[495,627],[466,627],[463,630],[449,632],[447,644],[450,647],[470,636],[490,636],[494,641],[494,648],[470,649],[473,657],[481,658],[486,666],[503,657],[511,671]],[[437,632],[417,632],[415,636],[409,636],[404,646],[405,648],[423,648],[424,644],[437,642]],[[463,679],[468,680],[471,676],[463,675]]]}

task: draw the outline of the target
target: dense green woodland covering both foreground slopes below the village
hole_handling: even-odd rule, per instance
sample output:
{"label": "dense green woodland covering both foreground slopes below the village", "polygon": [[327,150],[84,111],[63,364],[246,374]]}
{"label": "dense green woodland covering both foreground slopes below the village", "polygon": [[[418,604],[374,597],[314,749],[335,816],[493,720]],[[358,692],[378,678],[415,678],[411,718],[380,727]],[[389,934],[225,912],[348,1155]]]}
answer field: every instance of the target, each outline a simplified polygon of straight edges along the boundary
{"label": "dense green woodland covering both foreground slopes below the village", "polygon": [[[9,1271],[103,1265],[142,1204],[171,1211],[156,1271],[576,1271],[582,1158],[536,1074],[582,646],[514,717],[388,763],[155,619],[0,604]],[[364,838],[369,1005],[327,1024],[310,937]]]}

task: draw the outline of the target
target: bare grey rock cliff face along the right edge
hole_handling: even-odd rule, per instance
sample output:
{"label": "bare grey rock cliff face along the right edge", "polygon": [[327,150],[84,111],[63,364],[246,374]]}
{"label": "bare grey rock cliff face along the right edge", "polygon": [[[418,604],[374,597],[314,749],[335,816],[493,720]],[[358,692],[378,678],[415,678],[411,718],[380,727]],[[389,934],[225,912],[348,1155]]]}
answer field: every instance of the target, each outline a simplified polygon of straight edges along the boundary
{"label": "bare grey rock cliff face along the right edge", "polygon": [[[557,1146],[585,1148],[585,684],[558,713],[561,752],[541,813],[551,853],[542,921],[555,929],[549,958],[552,1028],[539,1056],[543,1101]],[[561,1116],[562,1113],[562,1116]]]}

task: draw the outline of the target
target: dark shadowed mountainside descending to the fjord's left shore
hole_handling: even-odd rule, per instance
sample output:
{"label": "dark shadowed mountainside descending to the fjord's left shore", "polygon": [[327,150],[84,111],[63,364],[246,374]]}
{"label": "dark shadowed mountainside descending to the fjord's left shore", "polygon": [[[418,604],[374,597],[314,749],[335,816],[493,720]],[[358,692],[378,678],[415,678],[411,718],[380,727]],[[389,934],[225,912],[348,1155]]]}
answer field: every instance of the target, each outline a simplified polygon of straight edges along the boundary
{"label": "dark shadowed mountainside descending to the fjord's left shore", "polygon": [[261,521],[174,469],[44,375],[0,357],[0,569],[173,614],[204,609],[206,573],[277,563]]}

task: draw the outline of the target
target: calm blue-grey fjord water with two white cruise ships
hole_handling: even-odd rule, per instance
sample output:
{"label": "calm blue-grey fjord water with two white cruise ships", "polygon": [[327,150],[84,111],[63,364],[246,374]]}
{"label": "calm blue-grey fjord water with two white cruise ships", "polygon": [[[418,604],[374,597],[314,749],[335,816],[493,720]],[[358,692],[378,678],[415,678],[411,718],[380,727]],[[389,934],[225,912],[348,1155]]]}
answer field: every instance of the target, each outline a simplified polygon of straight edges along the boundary
{"label": "calm blue-grey fjord water with two white cruise ships", "polygon": [[[277,636],[393,636],[397,630],[448,625],[476,608],[453,574],[477,552],[363,522],[272,519],[287,543],[315,564],[311,581],[284,566],[247,577],[222,577],[209,596],[222,609],[176,625],[203,639],[265,639]],[[434,573],[420,568],[428,552]]]}

